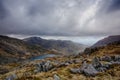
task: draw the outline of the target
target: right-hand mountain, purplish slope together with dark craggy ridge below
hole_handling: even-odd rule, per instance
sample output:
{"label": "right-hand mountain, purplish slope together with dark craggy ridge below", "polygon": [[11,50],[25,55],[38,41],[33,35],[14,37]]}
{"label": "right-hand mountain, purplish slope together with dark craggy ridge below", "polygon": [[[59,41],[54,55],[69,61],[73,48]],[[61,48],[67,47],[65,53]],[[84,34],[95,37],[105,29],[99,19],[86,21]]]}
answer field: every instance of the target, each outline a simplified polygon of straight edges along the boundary
{"label": "right-hand mountain, purplish slope together with dark craggy ridge below", "polygon": [[120,35],[108,36],[104,39],[99,40],[93,46],[86,48],[84,50],[84,53],[91,54],[91,53],[97,52],[105,47],[111,47],[111,49],[114,49],[114,47],[115,47],[114,45],[119,45],[119,44],[120,44]]}

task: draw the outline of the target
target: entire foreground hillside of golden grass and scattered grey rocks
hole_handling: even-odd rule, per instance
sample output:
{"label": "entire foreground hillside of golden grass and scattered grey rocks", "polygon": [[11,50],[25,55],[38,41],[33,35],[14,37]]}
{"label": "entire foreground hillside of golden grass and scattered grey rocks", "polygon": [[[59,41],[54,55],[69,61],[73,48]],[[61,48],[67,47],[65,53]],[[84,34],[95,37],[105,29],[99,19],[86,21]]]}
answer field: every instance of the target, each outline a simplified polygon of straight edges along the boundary
{"label": "entire foreground hillside of golden grass and scattered grey rocks", "polygon": [[119,80],[120,43],[115,41],[97,47],[89,54],[57,56],[3,67],[11,70],[0,75],[1,80]]}

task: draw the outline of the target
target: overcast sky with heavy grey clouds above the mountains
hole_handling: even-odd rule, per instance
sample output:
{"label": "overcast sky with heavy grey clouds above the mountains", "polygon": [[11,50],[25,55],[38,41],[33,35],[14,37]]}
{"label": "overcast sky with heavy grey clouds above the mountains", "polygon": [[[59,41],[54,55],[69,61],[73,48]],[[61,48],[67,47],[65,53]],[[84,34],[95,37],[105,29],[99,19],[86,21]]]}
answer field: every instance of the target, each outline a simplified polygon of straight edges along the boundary
{"label": "overcast sky with heavy grey clouds above the mountains", "polygon": [[118,35],[120,0],[0,0],[0,34]]}

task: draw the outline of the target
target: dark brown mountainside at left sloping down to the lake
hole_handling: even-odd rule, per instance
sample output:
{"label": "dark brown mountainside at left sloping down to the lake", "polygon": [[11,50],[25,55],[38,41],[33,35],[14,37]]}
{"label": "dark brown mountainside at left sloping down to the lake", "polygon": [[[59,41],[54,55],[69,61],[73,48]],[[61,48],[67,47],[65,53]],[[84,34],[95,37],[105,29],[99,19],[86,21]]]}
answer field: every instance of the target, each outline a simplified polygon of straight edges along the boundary
{"label": "dark brown mountainside at left sloping down to the lake", "polygon": [[40,45],[31,45],[23,40],[0,35],[0,64],[24,60],[32,56],[50,53]]}

